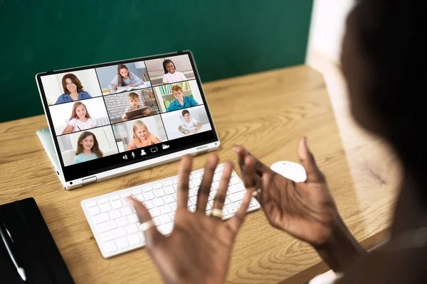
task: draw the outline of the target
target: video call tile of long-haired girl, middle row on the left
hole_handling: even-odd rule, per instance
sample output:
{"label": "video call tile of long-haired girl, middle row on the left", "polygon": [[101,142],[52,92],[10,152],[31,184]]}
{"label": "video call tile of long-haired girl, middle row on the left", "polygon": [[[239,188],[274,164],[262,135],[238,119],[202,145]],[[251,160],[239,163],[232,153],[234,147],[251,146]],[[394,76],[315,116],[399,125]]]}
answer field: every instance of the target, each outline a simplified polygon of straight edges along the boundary
{"label": "video call tile of long-haired girl, middle row on the left", "polygon": [[49,110],[56,136],[110,124],[102,97],[57,104]]}

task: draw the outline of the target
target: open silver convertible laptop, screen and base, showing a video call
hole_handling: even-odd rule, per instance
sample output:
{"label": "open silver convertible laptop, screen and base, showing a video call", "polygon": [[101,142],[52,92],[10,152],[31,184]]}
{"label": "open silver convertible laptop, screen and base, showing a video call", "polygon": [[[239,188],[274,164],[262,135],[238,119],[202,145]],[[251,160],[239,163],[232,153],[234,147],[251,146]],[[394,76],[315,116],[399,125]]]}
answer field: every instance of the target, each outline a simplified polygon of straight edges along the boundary
{"label": "open silver convertible laptop, screen and base, showing a video call", "polygon": [[[173,76],[164,76],[164,60],[174,65]],[[126,114],[127,121],[120,121],[130,107],[130,92],[108,92],[120,82],[118,65],[125,65],[127,71],[123,82],[131,79],[130,84],[139,85],[138,80],[148,78],[150,84],[145,85],[149,87],[132,92],[137,92],[139,98],[154,97],[158,113],[140,117],[138,109],[138,116],[131,111]],[[36,82],[48,121],[48,128],[37,131],[37,135],[65,190],[169,163],[182,155],[214,151],[220,146],[189,50],[41,72],[36,75]],[[180,92],[180,104],[171,104],[174,93]],[[184,109],[204,119],[206,131],[185,137],[174,135]]]}

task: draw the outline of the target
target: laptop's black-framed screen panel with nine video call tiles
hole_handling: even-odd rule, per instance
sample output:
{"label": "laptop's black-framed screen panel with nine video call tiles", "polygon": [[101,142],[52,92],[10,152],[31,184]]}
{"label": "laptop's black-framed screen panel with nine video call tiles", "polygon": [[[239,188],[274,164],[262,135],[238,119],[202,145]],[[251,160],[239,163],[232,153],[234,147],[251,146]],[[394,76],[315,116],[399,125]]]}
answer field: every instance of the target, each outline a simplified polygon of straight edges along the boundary
{"label": "laptop's black-framed screen panel with nine video call tiles", "polygon": [[218,141],[189,52],[37,80],[65,181]]}

